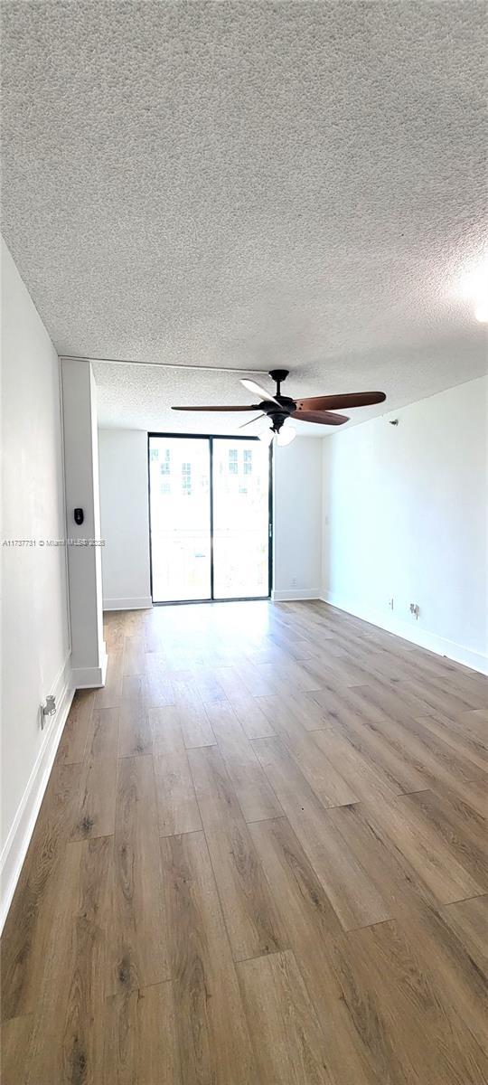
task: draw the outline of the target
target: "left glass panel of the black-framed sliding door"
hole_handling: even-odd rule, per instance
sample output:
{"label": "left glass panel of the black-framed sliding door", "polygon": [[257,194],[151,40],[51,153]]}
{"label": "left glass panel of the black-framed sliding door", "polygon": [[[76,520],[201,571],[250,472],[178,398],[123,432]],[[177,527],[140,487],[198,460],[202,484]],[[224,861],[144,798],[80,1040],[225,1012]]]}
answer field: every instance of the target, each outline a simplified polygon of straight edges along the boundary
{"label": "left glass panel of the black-framed sliding door", "polygon": [[210,599],[208,438],[149,441],[153,600]]}

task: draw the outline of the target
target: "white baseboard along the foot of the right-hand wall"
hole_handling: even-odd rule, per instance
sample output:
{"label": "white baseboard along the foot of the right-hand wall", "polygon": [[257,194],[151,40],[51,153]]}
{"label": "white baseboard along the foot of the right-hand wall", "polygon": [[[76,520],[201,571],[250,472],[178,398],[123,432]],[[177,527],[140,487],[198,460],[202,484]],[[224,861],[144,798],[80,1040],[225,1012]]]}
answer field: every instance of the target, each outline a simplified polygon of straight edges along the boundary
{"label": "white baseboard along the foot of the right-hand wall", "polygon": [[435,652],[436,655],[446,655],[448,660],[452,660],[454,663],[462,663],[465,667],[471,667],[473,671],[479,671],[483,675],[488,675],[488,655],[484,655],[481,652],[474,652],[471,648],[458,644],[454,640],[448,640],[446,637],[439,637],[435,633],[429,633],[427,629],[419,626],[418,623],[410,625],[408,622],[402,622],[401,618],[394,617],[393,615],[389,617],[389,615],[383,614],[382,611],[358,607],[350,600],[341,599],[331,592],[325,592],[319,598],[322,602],[329,603],[331,607],[337,607],[338,610],[346,611],[347,614],[352,614],[355,617],[360,617],[363,622],[370,622],[371,625],[376,625],[380,629],[394,633],[397,637],[402,637],[403,640],[410,640],[411,643],[419,644],[420,648],[426,648],[429,652]]}

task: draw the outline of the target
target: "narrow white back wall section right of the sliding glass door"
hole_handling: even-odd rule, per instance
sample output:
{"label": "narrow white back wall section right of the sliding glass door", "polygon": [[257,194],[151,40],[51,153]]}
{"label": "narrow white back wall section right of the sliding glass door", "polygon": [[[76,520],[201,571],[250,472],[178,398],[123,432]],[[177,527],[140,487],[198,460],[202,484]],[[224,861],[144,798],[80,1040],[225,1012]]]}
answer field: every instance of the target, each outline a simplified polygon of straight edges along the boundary
{"label": "narrow white back wall section right of the sliding glass door", "polygon": [[274,448],[273,599],[317,599],[321,589],[322,444],[296,437]]}

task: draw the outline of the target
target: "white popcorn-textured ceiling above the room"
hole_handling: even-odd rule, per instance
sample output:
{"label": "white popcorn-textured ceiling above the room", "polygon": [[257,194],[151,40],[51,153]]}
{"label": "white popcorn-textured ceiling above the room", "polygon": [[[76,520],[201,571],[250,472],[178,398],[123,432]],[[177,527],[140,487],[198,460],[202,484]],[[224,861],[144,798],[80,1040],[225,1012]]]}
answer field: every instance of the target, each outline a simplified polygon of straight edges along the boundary
{"label": "white popcorn-textured ceiling above the room", "polygon": [[[2,230],[59,352],[286,365],[292,394],[393,408],[484,372],[460,286],[483,259],[486,22],[476,0],[3,4]],[[104,424],[246,398],[234,376],[97,379]]]}

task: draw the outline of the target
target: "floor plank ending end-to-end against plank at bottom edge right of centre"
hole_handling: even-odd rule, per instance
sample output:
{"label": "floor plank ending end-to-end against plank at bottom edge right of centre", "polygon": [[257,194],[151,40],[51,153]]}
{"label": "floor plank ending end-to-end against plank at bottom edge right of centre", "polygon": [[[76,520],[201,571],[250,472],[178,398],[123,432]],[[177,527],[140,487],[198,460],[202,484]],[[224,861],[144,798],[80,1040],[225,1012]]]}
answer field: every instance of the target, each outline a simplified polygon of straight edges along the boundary
{"label": "floor plank ending end-to-end against plank at bottom edge right of centre", "polygon": [[234,960],[287,948],[220,753],[202,746],[189,756]]}

